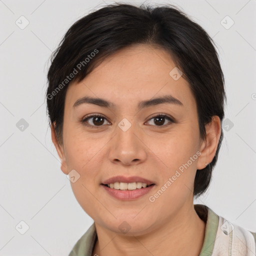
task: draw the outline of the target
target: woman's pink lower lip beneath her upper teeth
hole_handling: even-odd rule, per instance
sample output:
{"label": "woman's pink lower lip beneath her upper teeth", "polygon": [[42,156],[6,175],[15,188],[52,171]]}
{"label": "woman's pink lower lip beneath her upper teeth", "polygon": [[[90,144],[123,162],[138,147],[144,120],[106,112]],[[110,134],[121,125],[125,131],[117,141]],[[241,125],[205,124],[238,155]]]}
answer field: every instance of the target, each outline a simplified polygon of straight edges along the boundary
{"label": "woman's pink lower lip beneath her upper teeth", "polygon": [[155,185],[150,185],[147,187],[143,187],[143,188],[137,188],[134,190],[121,190],[121,189],[114,189],[114,188],[110,188],[108,186],[102,185],[103,188],[113,197],[117,198],[117,199],[121,199],[121,200],[132,200],[132,199],[136,199],[146,193],[148,193]]}

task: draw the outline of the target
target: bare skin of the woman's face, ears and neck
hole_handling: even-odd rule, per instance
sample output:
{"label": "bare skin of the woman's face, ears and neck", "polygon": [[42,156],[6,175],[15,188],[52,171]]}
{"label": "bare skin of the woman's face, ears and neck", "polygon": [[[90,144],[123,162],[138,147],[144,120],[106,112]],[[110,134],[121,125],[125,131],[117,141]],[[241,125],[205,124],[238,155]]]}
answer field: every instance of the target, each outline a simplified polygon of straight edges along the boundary
{"label": "bare skin of the woman's face, ears and neck", "polygon": [[[58,143],[53,124],[51,135],[62,172],[75,169],[80,174],[70,184],[77,201],[95,222],[98,240],[92,255],[200,253],[205,223],[193,207],[193,182],[196,169],[204,168],[215,155],[221,123],[214,116],[205,126],[206,139],[201,140],[195,99],[182,76],[174,80],[169,75],[174,67],[165,50],[155,45],[133,45],[107,57],[81,82],[67,88],[63,143]],[[141,100],[169,94],[183,106],[167,103],[137,108]],[[72,107],[83,96],[104,98],[116,108],[86,103]],[[152,117],[162,113],[176,122],[165,119],[164,127],[160,126]],[[88,127],[80,121],[88,114],[106,119],[99,127],[91,118],[87,124],[99,128]],[[117,125],[123,118],[131,124],[125,132]],[[200,156],[150,202],[148,197],[196,151]],[[156,185],[140,198],[118,200],[100,186],[115,175],[141,176]],[[118,228],[123,221],[131,227],[127,233]]]}

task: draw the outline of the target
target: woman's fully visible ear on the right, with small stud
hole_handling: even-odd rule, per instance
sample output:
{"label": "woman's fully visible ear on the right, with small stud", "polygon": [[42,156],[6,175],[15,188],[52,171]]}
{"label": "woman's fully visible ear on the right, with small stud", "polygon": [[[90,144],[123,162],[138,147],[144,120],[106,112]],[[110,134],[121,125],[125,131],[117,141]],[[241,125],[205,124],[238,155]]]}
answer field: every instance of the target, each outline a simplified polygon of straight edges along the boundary
{"label": "woman's fully visible ear on the right, with small stud", "polygon": [[221,121],[217,115],[212,116],[210,123],[205,125],[206,138],[200,144],[200,156],[197,161],[197,169],[206,167],[209,164],[217,150],[218,141],[221,134]]}

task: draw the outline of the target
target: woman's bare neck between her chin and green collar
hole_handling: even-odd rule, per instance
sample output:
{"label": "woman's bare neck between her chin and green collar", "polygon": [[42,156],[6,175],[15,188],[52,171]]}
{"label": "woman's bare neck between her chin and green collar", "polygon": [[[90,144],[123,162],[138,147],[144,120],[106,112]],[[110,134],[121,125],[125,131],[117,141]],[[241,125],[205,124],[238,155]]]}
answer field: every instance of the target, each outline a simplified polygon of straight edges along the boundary
{"label": "woman's bare neck between her chin and green collar", "polygon": [[192,207],[181,208],[149,233],[137,236],[119,235],[95,223],[98,239],[92,255],[197,256],[204,239],[205,223]]}

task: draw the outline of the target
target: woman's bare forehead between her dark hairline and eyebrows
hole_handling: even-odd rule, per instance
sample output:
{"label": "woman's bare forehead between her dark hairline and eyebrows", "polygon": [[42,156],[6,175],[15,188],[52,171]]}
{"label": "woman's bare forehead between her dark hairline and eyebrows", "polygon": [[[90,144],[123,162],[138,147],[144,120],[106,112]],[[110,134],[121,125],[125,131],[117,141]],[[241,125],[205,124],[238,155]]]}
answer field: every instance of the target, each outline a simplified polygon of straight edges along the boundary
{"label": "woman's bare forehead between her dark hairline and eyebrows", "polygon": [[82,96],[100,97],[124,105],[162,95],[172,95],[187,107],[195,104],[188,82],[176,70],[170,54],[152,45],[133,45],[105,58],[82,81],[71,83],[66,100]]}

